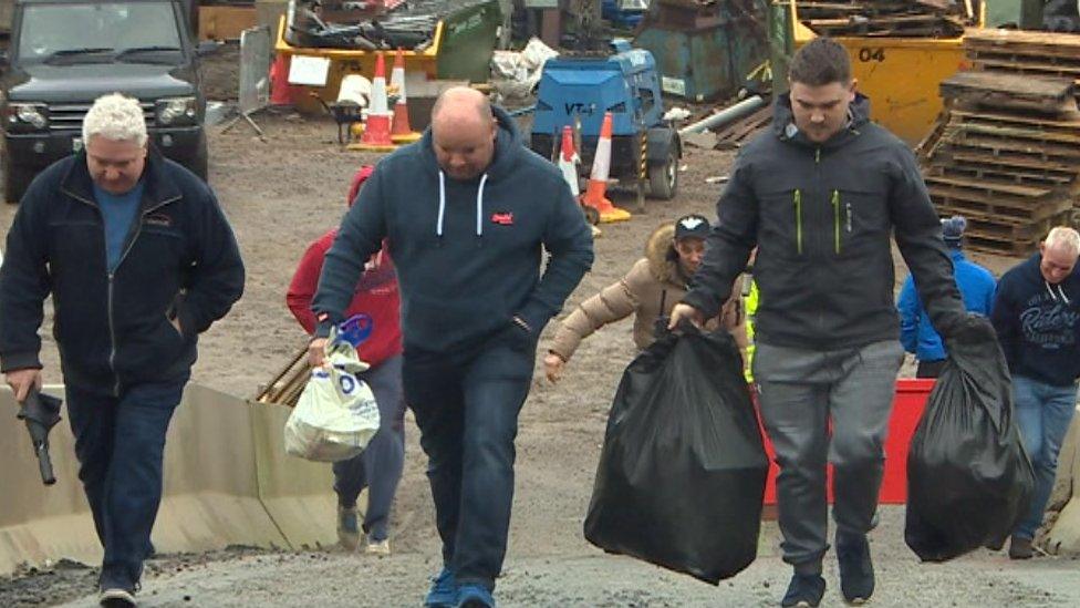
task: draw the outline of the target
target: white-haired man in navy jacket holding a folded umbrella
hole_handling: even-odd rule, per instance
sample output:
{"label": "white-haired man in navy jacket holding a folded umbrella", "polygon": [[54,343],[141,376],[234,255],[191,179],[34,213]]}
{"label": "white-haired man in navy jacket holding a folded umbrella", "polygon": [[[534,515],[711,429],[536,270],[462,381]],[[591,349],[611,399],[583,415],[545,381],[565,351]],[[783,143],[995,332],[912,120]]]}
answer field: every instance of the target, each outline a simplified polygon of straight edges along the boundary
{"label": "white-haired man in navy jacket holding a folded umbrella", "polygon": [[41,387],[51,293],[79,478],[105,550],[103,606],[134,606],[162,498],[165,433],[200,332],[243,290],[236,238],[210,188],[147,147],[138,101],[100,97],[85,150],[39,175],[0,267],[0,371]]}

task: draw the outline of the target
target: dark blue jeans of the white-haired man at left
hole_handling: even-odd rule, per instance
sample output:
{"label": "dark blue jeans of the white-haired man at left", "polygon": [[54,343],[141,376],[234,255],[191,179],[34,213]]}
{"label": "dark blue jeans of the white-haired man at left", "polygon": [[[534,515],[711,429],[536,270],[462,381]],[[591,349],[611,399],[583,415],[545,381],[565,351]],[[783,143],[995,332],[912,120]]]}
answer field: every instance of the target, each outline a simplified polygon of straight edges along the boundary
{"label": "dark blue jeans of the white-haired man at left", "polygon": [[154,550],[165,433],[186,382],[138,384],[118,398],[66,388],[79,478],[105,549],[103,588],[134,587]]}

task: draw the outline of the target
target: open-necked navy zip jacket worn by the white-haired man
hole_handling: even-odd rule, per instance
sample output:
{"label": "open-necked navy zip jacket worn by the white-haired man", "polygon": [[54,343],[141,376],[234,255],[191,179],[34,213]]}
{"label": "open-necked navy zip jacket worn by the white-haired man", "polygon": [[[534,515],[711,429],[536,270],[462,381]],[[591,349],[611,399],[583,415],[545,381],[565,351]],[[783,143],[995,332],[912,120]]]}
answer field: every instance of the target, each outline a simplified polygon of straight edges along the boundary
{"label": "open-necked navy zip jacket worn by the white-haired man", "polygon": [[41,368],[38,329],[51,292],[64,382],[118,395],[132,384],[190,375],[197,334],[243,291],[243,264],[202,181],[153,151],[143,179],[113,274],[85,153],[33,181],[0,268],[0,370]]}

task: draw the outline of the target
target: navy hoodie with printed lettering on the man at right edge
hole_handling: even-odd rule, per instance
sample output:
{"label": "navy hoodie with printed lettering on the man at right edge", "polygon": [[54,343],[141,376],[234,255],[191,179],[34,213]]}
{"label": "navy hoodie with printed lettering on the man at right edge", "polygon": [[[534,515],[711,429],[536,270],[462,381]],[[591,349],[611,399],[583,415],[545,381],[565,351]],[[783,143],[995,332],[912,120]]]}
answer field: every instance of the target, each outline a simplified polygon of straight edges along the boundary
{"label": "navy hoodie with printed lettering on the man at right edge", "polygon": [[1051,285],[1041,262],[1036,254],[1001,277],[990,321],[1014,375],[1068,387],[1080,377],[1080,265]]}

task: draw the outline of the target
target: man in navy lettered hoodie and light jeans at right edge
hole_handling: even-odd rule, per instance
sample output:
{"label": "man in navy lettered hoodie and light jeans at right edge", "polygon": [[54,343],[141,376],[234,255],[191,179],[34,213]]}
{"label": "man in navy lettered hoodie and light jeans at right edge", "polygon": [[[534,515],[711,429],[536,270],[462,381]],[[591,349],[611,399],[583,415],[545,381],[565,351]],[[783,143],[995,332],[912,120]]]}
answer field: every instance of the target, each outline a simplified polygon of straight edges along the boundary
{"label": "man in navy lettered hoodie and light jeans at right edge", "polygon": [[1059,226],[1039,253],[1001,277],[990,320],[1012,374],[1012,402],[1035,468],[1035,494],[1012,532],[1009,557],[1031,557],[1058,452],[1077,408],[1080,377],[1080,234]]}

